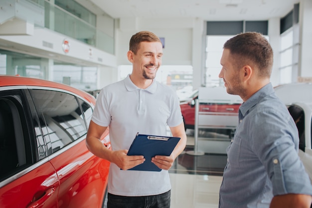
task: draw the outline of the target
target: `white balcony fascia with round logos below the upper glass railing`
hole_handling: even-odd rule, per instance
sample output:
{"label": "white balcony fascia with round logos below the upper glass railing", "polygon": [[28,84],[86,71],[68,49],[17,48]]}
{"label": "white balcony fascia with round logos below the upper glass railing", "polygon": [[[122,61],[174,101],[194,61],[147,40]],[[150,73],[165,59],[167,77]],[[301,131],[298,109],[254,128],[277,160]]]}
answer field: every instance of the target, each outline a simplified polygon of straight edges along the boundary
{"label": "white balcony fascia with round logos below the upper glass railing", "polygon": [[[65,53],[62,48],[64,39],[67,39],[70,44],[68,53]],[[46,56],[46,58],[64,61],[72,58],[78,59],[80,64],[87,62],[92,65],[99,64],[111,67],[116,67],[117,63],[116,56],[112,54],[46,28],[35,27],[33,35],[1,35],[0,41],[15,45],[15,48],[22,53],[36,52],[40,56]],[[49,43],[51,47],[44,46],[43,42]],[[92,54],[89,52],[90,49],[92,49]]]}

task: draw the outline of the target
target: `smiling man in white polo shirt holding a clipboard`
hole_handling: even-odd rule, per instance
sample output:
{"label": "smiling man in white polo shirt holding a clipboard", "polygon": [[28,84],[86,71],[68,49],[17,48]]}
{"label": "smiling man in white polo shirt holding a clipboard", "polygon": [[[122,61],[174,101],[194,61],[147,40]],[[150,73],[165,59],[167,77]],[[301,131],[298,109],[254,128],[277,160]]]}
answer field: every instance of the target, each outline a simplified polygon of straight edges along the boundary
{"label": "smiling man in white polo shirt holding a clipboard", "polygon": [[[133,70],[124,80],[104,87],[90,122],[87,147],[111,162],[108,208],[170,207],[168,170],[184,150],[186,135],[176,93],[155,80],[161,65],[162,44],[152,32],[141,31],[130,40],[128,60]],[[130,171],[145,159],[127,156],[136,134],[166,135],[166,125],[180,141],[170,156],[155,156],[160,172]],[[109,127],[112,151],[100,141]]]}

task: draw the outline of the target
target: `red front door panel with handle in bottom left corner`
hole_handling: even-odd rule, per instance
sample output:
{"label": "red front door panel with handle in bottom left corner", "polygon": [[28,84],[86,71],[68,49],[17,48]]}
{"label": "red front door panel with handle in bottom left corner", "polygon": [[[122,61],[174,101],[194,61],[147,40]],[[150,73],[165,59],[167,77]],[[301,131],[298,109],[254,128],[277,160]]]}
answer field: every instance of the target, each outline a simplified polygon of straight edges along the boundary
{"label": "red front door panel with handle in bottom left corner", "polygon": [[[1,208],[57,208],[59,182],[56,172],[49,162],[38,166],[16,180],[0,188]],[[30,167],[31,169],[31,167]],[[27,171],[24,170],[24,171]],[[21,173],[22,174],[22,173]],[[19,174],[15,175],[18,177]]]}

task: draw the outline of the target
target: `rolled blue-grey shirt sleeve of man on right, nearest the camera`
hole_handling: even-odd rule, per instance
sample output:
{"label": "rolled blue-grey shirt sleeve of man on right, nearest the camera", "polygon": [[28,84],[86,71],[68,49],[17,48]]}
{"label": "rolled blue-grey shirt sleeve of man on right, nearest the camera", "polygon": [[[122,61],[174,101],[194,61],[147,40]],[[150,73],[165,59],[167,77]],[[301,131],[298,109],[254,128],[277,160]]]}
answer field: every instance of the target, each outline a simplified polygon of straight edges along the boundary
{"label": "rolled blue-grey shirt sleeve of man on right, nearest the camera", "polygon": [[252,131],[253,151],[270,177],[273,195],[312,195],[308,174],[298,156],[298,130],[286,111],[265,109],[254,120],[258,127]]}

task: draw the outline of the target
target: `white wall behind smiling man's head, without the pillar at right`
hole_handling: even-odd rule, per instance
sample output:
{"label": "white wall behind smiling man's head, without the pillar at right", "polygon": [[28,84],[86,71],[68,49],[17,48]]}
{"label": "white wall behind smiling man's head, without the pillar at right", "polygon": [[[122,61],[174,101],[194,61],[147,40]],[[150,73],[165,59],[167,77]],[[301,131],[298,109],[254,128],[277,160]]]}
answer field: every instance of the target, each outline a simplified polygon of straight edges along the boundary
{"label": "white wall behind smiling man's head, without the pillar at right", "polygon": [[191,65],[192,22],[191,19],[121,18],[117,29],[117,63],[130,64],[127,59],[129,40],[139,31],[149,30],[165,38],[163,65]]}

